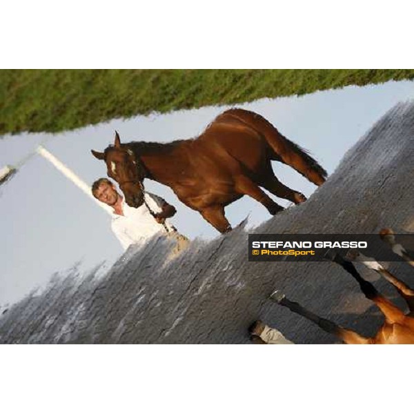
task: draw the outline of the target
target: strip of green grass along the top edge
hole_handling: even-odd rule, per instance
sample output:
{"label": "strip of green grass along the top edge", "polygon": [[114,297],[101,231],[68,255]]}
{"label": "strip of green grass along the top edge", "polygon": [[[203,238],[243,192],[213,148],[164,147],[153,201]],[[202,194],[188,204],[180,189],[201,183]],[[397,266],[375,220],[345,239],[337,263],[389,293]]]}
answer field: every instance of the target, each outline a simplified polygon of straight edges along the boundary
{"label": "strip of green grass along the top edge", "polygon": [[414,79],[414,70],[0,70],[0,135]]}

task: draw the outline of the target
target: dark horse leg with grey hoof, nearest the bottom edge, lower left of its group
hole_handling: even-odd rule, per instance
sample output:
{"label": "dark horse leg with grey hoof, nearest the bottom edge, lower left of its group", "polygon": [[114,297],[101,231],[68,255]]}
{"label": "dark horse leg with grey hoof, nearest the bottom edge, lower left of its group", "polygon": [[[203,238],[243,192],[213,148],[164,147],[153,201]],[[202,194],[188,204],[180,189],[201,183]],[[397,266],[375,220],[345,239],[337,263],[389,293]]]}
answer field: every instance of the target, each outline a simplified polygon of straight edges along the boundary
{"label": "dark horse leg with grey hoof, nearest the bottom edge, lower left of its group", "polygon": [[297,302],[291,302],[279,290],[275,290],[275,292],[270,295],[270,299],[275,301],[277,304],[288,308],[290,311],[306,317],[306,319],[309,319],[317,324],[317,326],[322,328],[325,332],[331,333],[339,337],[339,339],[342,339],[342,341],[346,344],[369,344],[370,342],[369,338],[363,337],[362,335],[359,335],[359,333],[350,331],[349,329],[342,328],[342,326],[339,326],[328,319],[319,317],[315,313],[312,313],[306,308],[300,306]]}

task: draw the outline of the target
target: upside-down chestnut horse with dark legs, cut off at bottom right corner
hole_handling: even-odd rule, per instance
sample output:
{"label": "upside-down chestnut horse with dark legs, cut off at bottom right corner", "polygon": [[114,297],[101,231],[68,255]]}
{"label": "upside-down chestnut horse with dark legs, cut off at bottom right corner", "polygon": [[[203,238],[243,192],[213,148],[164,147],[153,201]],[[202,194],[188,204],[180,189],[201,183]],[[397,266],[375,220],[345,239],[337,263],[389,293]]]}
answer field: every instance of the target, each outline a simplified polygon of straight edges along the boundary
{"label": "upside-down chestnut horse with dark legs, cut off at bottom right corner", "polygon": [[[381,235],[389,234],[386,233],[388,231],[388,229],[382,230]],[[342,268],[357,280],[364,295],[368,299],[371,299],[384,315],[384,324],[380,326],[374,337],[364,337],[359,335],[359,333],[342,328],[342,326],[338,326],[328,319],[319,317],[296,302],[291,302],[279,290],[273,292],[270,298],[279,305],[286,306],[290,311],[299,313],[299,315],[306,317],[306,319],[315,322],[324,331],[336,335],[346,344],[414,344],[414,290],[397,279],[397,277],[391,275],[388,270],[373,261],[373,259],[364,257],[360,253],[353,253],[353,257],[351,258],[355,259],[357,255],[359,255],[359,260],[362,260],[365,266],[375,270],[384,279],[393,284],[408,306],[408,313],[401,311],[393,302],[382,296],[373,284],[363,279],[351,262],[343,259],[339,255],[333,255],[331,257],[333,262],[342,266]]]}

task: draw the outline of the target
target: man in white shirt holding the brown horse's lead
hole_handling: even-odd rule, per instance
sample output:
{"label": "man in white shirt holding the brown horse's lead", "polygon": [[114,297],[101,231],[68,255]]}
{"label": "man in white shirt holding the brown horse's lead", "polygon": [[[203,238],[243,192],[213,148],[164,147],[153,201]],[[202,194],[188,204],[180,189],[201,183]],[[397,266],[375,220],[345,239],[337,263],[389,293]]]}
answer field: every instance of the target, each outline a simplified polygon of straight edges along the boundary
{"label": "man in white shirt holding the brown horse's lead", "polygon": [[173,235],[177,239],[175,253],[188,244],[188,239],[179,235],[168,220],[168,217],[175,215],[175,208],[161,197],[145,193],[146,203],[138,208],[130,207],[107,178],[97,179],[92,184],[92,195],[114,209],[112,231],[125,250],[130,244],[145,244],[157,234]]}

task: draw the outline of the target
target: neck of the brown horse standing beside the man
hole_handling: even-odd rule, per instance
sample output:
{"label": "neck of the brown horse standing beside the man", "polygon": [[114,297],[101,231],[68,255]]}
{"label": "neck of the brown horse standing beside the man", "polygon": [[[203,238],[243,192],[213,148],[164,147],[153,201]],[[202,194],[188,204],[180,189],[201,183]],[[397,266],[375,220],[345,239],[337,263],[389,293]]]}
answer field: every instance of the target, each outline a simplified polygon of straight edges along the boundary
{"label": "neck of the brown horse standing beside the man", "polygon": [[157,142],[136,142],[132,144],[132,150],[146,168],[147,178],[161,184],[170,184],[175,177],[178,177],[179,170],[187,162],[186,152],[181,150],[181,145],[177,141],[166,144]]}

